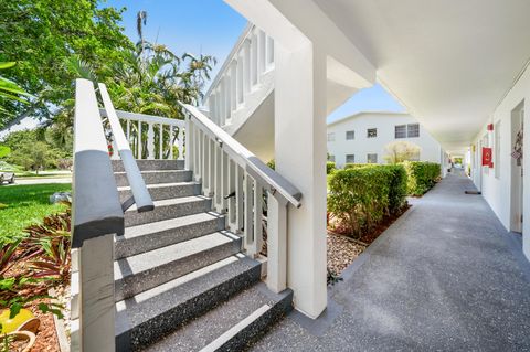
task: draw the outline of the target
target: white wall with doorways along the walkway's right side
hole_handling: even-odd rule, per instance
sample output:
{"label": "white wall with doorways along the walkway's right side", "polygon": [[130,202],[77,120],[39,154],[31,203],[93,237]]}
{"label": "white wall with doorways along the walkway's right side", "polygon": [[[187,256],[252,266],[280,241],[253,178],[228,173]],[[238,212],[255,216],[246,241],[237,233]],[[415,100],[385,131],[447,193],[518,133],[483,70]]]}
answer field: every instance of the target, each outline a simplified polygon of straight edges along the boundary
{"label": "white wall with doorways along the walkway's right side", "polygon": [[[511,113],[526,102],[524,106],[524,136],[526,143],[523,150],[523,250],[530,259],[530,70],[526,70],[515,86],[508,92],[499,106],[495,109],[491,118],[483,126],[480,132],[476,136],[474,145],[475,152],[471,152],[473,173],[471,179],[483,192],[484,198],[489,203],[500,222],[507,230],[510,230],[510,210],[511,210]],[[495,135],[487,131],[487,125],[494,126],[500,121],[500,158],[495,160],[494,169],[480,167],[480,141],[484,136],[489,135],[489,147],[495,150]],[[474,161],[476,163],[474,164]],[[500,161],[500,166],[499,166]],[[500,174],[495,175],[495,168],[499,168]]]}

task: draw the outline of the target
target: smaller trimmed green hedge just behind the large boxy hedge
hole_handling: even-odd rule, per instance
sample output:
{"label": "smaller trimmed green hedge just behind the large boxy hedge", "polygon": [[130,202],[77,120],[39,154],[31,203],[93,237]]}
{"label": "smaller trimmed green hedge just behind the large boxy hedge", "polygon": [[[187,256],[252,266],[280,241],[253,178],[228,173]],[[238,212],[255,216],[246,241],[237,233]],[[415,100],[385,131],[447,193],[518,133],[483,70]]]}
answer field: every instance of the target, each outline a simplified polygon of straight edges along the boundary
{"label": "smaller trimmed green hedge just behind the large boxy hedge", "polygon": [[423,195],[439,180],[439,163],[426,161],[404,161],[407,174],[407,193]]}

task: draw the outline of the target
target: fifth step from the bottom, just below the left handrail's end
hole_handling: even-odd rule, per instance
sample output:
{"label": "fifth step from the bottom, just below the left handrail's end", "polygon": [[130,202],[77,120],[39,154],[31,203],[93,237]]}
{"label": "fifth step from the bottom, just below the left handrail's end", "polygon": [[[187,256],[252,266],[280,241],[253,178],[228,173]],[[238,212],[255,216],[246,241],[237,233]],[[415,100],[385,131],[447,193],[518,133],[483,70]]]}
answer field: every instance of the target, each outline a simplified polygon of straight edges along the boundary
{"label": "fifth step from the bottom, just below the left handrail's end", "polygon": [[202,195],[155,201],[155,210],[138,213],[136,205],[125,212],[125,227],[209,212],[212,200]]}

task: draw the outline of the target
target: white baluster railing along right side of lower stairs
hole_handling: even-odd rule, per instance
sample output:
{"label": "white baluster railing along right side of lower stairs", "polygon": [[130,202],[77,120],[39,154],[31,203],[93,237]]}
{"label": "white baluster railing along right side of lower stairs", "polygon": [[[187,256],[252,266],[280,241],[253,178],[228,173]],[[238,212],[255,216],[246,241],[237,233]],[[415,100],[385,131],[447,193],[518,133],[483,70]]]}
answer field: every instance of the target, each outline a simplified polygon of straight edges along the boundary
{"label": "white baluster railing along right side of lower stairs", "polygon": [[[263,245],[263,207],[267,205],[267,286],[286,288],[287,206],[300,206],[301,193],[289,181],[216,126],[198,108],[182,105],[187,117],[187,169],[212,198],[215,211],[226,213],[227,227],[242,234],[246,254]],[[265,193],[264,193],[265,191]]]}

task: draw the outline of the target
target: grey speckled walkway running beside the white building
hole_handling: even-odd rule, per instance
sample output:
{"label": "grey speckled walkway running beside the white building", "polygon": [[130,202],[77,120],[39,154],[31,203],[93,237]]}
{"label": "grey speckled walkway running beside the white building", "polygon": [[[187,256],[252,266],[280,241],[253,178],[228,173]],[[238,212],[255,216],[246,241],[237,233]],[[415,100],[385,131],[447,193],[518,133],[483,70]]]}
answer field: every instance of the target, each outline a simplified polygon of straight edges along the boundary
{"label": "grey speckled walkway running beside the white building", "polygon": [[530,264],[464,175],[449,174],[254,351],[530,351]]}

